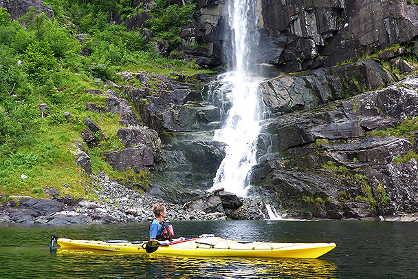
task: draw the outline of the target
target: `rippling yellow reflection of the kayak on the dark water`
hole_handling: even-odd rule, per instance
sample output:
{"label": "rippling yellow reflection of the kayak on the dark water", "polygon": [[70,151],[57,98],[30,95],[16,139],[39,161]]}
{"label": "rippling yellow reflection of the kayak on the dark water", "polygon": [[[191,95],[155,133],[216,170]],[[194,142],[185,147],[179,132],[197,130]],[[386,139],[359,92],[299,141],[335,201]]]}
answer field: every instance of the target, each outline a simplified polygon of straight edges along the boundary
{"label": "rippling yellow reflection of the kayak on the dark water", "polygon": [[[180,256],[119,254],[110,251],[58,249],[56,257],[72,274],[94,272],[98,265],[105,276],[157,278],[336,278],[336,265],[318,259],[188,258]],[[88,262],[79,265],[78,262]],[[62,272],[65,272],[62,271]]]}

